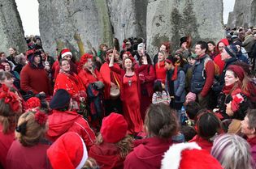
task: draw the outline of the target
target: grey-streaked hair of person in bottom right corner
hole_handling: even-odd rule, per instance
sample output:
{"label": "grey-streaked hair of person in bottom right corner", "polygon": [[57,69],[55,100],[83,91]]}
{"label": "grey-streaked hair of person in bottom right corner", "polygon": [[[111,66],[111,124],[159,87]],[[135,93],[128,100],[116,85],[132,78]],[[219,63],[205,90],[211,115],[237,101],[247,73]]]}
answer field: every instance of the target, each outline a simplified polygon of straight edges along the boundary
{"label": "grey-streaked hair of person in bottom right corner", "polygon": [[210,154],[223,169],[254,169],[249,143],[236,134],[223,134],[215,139]]}

